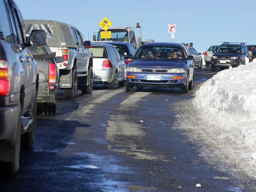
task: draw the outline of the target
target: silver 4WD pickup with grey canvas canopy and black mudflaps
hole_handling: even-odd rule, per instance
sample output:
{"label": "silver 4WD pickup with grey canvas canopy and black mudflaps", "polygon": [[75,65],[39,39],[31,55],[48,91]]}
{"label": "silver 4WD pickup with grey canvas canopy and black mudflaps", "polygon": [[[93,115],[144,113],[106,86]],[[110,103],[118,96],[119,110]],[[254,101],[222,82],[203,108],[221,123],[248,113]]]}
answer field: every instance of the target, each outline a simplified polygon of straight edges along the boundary
{"label": "silver 4WD pickup with grey canvas canopy and black mudflaps", "polygon": [[72,25],[52,20],[24,20],[27,33],[44,30],[48,46],[56,56],[65,58],[58,63],[65,98],[74,98],[78,89],[91,93],[93,89],[93,55],[85,48],[82,33]]}

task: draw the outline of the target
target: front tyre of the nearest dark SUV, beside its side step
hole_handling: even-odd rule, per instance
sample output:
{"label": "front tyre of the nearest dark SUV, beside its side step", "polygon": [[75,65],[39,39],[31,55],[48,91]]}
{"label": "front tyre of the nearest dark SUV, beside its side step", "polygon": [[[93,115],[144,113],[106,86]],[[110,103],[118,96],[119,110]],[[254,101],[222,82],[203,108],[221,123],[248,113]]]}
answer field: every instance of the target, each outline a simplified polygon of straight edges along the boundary
{"label": "front tyre of the nearest dark SUV, beside its side step", "polygon": [[33,146],[35,142],[35,127],[36,127],[36,119],[37,119],[37,101],[35,98],[35,101],[32,106],[32,118],[33,122],[32,124],[28,127],[28,130],[30,132],[26,132],[24,135],[22,135],[22,146],[25,148],[30,148]]}

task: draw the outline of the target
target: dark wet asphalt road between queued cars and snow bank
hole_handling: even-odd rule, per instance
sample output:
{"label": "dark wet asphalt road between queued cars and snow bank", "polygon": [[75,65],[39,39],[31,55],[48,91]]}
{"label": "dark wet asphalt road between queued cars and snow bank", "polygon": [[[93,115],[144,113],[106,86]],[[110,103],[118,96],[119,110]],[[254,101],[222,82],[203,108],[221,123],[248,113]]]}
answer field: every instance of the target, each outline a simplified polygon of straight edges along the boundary
{"label": "dark wet asphalt road between queued cars and snow bank", "polygon": [[37,116],[36,142],[21,150],[19,172],[0,178],[0,191],[254,191],[178,129],[176,103],[190,102],[216,73],[197,69],[189,94],[95,85],[65,99],[59,89],[57,115]]}

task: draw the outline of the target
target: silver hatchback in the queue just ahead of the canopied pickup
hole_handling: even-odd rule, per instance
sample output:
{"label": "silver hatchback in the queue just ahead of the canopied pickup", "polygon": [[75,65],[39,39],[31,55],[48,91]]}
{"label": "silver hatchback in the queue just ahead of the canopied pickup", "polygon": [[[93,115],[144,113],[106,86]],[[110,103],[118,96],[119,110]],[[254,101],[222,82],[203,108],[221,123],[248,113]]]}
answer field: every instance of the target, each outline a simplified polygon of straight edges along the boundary
{"label": "silver hatchback in the queue just ahead of the canopied pickup", "polygon": [[118,83],[123,87],[126,65],[115,46],[95,42],[86,47],[93,54],[93,83],[108,84],[109,89],[116,89]]}

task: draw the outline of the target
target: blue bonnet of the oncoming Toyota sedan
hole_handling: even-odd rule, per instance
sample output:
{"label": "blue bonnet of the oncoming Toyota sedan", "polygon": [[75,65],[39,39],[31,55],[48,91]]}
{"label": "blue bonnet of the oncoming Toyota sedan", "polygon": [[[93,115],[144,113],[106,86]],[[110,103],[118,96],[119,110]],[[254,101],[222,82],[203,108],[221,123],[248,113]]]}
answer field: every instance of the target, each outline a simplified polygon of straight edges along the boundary
{"label": "blue bonnet of the oncoming Toyota sedan", "polygon": [[136,59],[130,62],[130,66],[136,66],[141,69],[163,69],[181,67],[184,64],[184,60],[142,60]]}

